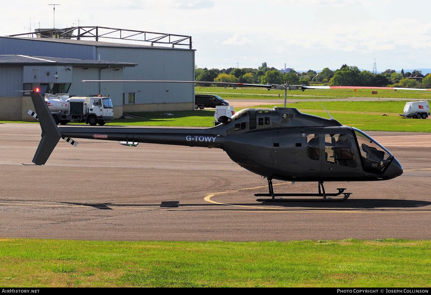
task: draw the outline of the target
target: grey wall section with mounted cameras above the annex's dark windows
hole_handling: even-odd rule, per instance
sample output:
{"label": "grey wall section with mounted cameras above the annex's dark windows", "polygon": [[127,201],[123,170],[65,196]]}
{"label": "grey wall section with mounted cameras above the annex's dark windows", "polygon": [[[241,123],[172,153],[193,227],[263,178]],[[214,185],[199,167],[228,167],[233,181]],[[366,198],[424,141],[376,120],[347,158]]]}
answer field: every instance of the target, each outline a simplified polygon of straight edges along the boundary
{"label": "grey wall section with mounted cameras above the annex's dark windows", "polygon": [[72,66],[24,66],[22,80],[23,83],[72,83],[72,71]]}

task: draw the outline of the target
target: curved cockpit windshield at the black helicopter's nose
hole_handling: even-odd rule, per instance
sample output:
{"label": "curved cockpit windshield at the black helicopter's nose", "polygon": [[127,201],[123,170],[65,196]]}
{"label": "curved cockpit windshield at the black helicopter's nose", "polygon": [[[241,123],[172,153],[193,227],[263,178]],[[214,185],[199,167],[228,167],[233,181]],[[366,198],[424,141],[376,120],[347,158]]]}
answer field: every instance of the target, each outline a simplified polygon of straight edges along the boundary
{"label": "curved cockpit windshield at the black helicopter's nose", "polygon": [[381,174],[394,158],[392,154],[377,141],[359,129],[353,128],[358,140],[365,172]]}

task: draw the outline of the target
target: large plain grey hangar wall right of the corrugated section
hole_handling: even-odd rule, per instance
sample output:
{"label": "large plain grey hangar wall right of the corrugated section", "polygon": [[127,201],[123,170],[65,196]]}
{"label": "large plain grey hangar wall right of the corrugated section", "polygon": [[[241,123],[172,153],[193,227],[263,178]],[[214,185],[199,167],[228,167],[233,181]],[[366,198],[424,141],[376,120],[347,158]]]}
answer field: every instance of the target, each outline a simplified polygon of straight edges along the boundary
{"label": "large plain grey hangar wall right of the corrugated section", "polygon": [[[194,79],[194,50],[99,47],[101,60],[137,63],[123,71],[124,80]],[[192,103],[194,85],[178,83],[124,83],[123,92],[136,93],[136,104]]]}

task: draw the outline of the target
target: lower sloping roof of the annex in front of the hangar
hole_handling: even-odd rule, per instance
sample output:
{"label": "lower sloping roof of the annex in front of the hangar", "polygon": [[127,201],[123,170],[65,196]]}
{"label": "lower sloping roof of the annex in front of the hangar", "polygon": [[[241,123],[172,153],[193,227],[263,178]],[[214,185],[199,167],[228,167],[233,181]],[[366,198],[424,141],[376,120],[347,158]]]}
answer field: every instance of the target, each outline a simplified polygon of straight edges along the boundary
{"label": "lower sloping roof of the annex in front of the hangar", "polygon": [[75,58],[28,56],[28,55],[0,55],[1,65],[81,65],[89,67],[98,66],[137,66],[137,63],[123,63],[107,60],[78,60]]}

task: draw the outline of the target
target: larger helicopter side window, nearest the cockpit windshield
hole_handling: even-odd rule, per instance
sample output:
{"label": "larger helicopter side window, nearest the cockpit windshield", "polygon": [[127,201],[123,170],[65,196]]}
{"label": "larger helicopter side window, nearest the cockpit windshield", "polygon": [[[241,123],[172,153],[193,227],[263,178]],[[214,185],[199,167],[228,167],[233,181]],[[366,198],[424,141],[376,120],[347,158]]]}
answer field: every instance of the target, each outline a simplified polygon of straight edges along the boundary
{"label": "larger helicopter side window, nearest the cockpit windshield", "polygon": [[325,158],[328,163],[355,168],[356,159],[348,134],[325,135]]}

